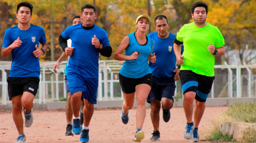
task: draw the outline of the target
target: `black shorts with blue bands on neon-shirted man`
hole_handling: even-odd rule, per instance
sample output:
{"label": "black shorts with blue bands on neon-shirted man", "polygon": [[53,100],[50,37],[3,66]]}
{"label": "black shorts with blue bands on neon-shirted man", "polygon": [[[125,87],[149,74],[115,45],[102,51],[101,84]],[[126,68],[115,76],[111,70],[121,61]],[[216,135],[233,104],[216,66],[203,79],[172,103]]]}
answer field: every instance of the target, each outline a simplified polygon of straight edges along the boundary
{"label": "black shorts with blue bands on neon-shirted man", "polygon": [[189,91],[196,93],[195,99],[205,102],[212,89],[214,76],[203,76],[191,70],[180,70],[180,82],[183,95]]}

